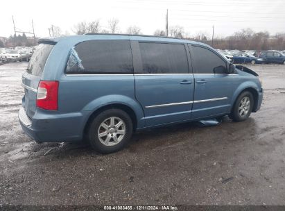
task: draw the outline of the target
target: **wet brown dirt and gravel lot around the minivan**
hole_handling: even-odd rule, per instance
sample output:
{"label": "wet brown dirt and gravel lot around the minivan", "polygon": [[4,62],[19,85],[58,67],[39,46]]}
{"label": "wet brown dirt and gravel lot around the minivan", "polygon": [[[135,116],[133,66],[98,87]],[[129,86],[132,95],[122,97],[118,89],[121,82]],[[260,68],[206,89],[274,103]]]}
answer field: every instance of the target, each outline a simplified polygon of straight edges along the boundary
{"label": "wet brown dirt and gravel lot around the minivan", "polygon": [[285,66],[254,65],[250,119],[137,133],[118,153],[36,144],[17,119],[26,62],[0,66],[0,205],[285,205]]}

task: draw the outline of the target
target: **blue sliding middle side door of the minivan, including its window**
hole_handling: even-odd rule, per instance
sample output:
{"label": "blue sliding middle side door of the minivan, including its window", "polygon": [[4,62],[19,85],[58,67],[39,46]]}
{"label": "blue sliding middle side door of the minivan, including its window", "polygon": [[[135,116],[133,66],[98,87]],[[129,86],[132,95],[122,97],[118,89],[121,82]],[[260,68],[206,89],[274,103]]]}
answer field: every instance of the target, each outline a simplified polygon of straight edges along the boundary
{"label": "blue sliding middle side door of the minivan, including its window", "polygon": [[187,45],[132,42],[132,51],[136,98],[146,126],[191,119],[194,83]]}

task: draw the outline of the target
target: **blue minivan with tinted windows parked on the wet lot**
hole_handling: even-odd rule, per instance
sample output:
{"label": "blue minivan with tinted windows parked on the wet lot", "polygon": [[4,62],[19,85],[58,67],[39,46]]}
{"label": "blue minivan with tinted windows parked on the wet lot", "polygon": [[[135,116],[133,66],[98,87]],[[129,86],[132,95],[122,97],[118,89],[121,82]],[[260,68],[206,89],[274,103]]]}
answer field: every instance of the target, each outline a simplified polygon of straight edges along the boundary
{"label": "blue minivan with tinted windows parked on the wet lot", "polygon": [[261,106],[258,75],[200,42],[87,34],[39,43],[19,110],[37,142],[88,140],[112,153],[137,130],[224,115],[244,121]]}

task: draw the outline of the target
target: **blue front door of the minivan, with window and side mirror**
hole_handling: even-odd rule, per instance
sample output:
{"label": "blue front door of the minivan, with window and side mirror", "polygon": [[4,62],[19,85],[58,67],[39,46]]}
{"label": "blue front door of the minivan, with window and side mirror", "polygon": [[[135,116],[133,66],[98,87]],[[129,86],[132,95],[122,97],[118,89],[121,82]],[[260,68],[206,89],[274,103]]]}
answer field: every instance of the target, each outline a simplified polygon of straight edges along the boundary
{"label": "blue front door of the minivan, with window and side mirror", "polygon": [[195,92],[192,118],[207,118],[230,112],[232,95],[239,81],[236,74],[225,74],[225,60],[214,50],[189,47],[193,54]]}

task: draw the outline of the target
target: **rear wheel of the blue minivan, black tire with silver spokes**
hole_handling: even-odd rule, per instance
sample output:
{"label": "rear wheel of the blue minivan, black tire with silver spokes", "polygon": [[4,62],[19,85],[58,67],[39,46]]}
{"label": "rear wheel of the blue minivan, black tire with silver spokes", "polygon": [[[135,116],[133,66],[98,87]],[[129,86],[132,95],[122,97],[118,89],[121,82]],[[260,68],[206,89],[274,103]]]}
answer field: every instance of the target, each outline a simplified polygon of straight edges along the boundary
{"label": "rear wheel of the blue minivan, black tire with silver spokes", "polygon": [[[121,129],[119,129],[120,127],[118,129],[112,128],[112,126],[110,126],[111,120],[109,120],[111,119],[111,117],[115,117],[114,125],[116,125],[118,120],[123,121],[125,133],[122,137],[120,137],[119,131],[123,131],[122,128],[123,126],[121,126]],[[101,132],[101,133],[107,133],[107,135],[102,137],[100,140],[98,137],[98,133],[103,128],[103,126],[101,126],[103,122],[105,122],[105,125],[109,127],[105,131]],[[118,138],[117,134],[115,133],[117,132],[117,130],[118,130]],[[112,137],[110,137],[111,135]],[[121,139],[117,144],[114,140],[115,135],[116,135],[116,140]],[[103,144],[103,142],[101,142],[101,141],[106,142],[108,137],[110,138],[110,141],[108,141],[107,143],[114,145],[107,146],[106,144]],[[130,140],[130,137],[132,137],[132,119],[130,119],[130,116],[126,112],[119,109],[110,109],[101,112],[99,115],[94,117],[91,124],[89,124],[89,128],[87,130],[87,140],[89,141],[92,148],[100,153],[114,153],[116,151],[123,149],[123,147],[126,146],[128,141]],[[103,140],[104,138],[105,140]]]}

